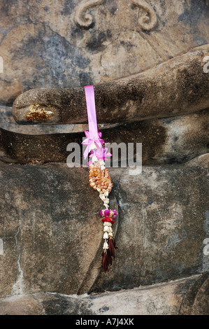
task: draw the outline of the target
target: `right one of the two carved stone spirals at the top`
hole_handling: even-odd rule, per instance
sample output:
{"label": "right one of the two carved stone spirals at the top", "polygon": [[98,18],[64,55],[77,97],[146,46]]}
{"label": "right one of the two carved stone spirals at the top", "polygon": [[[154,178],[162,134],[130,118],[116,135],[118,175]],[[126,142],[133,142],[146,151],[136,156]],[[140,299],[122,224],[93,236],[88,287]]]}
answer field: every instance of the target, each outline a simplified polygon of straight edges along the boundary
{"label": "right one of the two carved stone spirals at the top", "polygon": [[154,9],[143,0],[131,0],[131,3],[145,9],[150,15],[150,18],[147,16],[140,16],[140,18],[138,18],[138,25],[140,25],[140,27],[145,31],[150,31],[153,29],[157,25],[157,15]]}

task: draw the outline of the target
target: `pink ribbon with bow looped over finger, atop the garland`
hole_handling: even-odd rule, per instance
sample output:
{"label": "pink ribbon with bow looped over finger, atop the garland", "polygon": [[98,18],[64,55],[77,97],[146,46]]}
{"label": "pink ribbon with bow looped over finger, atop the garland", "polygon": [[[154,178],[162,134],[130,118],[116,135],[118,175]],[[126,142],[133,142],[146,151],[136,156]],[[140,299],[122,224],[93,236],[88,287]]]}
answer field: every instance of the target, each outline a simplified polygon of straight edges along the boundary
{"label": "pink ribbon with bow looped over finger, atop the garland", "polygon": [[88,123],[89,123],[89,132],[85,130],[85,136],[87,137],[84,141],[82,141],[83,145],[87,145],[87,148],[84,152],[84,158],[87,158],[87,155],[91,151],[91,146],[94,143],[96,148],[102,148],[102,144],[104,143],[103,139],[101,139],[101,132],[98,132],[98,126],[96,121],[96,106],[95,106],[95,98],[94,98],[94,86],[87,85],[85,88],[85,97],[87,103],[87,115],[88,115]]}

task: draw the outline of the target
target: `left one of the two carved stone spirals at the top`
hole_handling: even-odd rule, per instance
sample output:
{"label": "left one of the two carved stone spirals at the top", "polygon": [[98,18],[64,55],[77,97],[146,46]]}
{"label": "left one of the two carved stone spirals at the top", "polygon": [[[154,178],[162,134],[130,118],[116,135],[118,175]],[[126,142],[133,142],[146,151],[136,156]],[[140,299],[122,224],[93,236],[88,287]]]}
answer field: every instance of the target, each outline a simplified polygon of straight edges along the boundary
{"label": "left one of the two carved stone spirals at the top", "polygon": [[87,9],[94,7],[96,5],[99,5],[103,2],[103,0],[89,0],[89,1],[83,1],[79,6],[78,9],[75,12],[75,23],[80,25],[80,27],[90,27],[93,22],[93,17],[90,14],[83,14]]}

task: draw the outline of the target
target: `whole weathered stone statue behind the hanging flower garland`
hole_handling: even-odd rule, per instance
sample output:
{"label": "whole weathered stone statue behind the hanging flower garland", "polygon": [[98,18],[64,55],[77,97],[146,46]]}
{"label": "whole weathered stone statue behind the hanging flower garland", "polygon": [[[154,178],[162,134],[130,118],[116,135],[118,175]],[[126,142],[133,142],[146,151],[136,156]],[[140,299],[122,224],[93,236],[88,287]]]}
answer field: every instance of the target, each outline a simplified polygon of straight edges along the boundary
{"label": "whole weathered stone statue behind the hanging flower garland", "polygon": [[[6,6],[0,109],[16,125],[0,128],[0,314],[208,314],[208,1]],[[66,165],[91,84],[106,142],[143,147],[141,174],[110,168],[106,274],[101,202],[87,168]]]}

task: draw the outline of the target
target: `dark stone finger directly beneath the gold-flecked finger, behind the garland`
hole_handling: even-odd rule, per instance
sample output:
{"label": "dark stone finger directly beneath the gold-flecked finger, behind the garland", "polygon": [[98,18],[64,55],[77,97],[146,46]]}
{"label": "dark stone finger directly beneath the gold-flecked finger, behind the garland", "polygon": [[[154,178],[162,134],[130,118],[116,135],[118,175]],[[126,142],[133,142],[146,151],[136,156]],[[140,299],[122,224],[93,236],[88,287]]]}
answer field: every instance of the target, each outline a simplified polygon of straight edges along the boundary
{"label": "dark stone finger directly beneath the gold-flecked finger, behind the garland", "polygon": [[[27,126],[20,125],[19,130],[16,130],[16,127],[15,129],[7,127],[24,132],[24,127]],[[44,135],[45,127],[42,130],[40,127],[41,125],[31,125],[26,128],[27,132],[31,130],[31,134],[36,132],[34,135],[1,130],[1,160],[19,163],[66,162],[70,154],[66,151],[68,144],[73,142],[81,145],[82,138],[85,136],[85,127],[80,125],[70,126],[71,134],[52,134],[54,131],[52,125],[46,127],[46,132],[51,133]],[[187,116],[145,120],[140,123],[116,127],[113,125],[106,128],[107,126],[100,129],[106,143],[118,145],[124,143],[127,149],[129,143],[134,143],[135,156],[136,143],[141,143],[143,165],[183,163],[209,152],[208,110]],[[73,133],[75,129],[80,129],[80,132]],[[88,130],[88,126],[86,129]],[[56,125],[56,130],[62,132],[62,125],[59,125],[59,128]],[[65,126],[64,130],[67,130]],[[38,136],[38,132],[42,134]],[[114,158],[117,151],[113,149],[109,151]],[[82,157],[82,148],[80,155]],[[80,161],[83,162],[82,159]]]}

